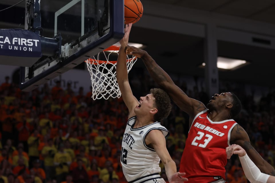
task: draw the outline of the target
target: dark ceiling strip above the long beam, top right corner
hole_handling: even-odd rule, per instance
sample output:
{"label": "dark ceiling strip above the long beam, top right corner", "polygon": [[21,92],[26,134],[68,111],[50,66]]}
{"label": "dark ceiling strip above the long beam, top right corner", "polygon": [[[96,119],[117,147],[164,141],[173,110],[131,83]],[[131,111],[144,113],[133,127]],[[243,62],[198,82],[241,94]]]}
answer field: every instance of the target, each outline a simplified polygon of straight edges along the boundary
{"label": "dark ceiling strip above the long beam, top right corner", "polygon": [[143,0],[275,23],[274,0]]}

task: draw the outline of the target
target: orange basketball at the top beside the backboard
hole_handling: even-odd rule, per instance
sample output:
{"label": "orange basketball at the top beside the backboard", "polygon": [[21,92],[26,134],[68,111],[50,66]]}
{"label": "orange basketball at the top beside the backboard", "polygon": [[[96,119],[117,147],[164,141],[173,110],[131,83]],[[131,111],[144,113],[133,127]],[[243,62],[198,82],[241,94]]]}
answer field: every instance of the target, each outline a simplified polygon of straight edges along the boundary
{"label": "orange basketball at the top beside the backboard", "polygon": [[136,23],[143,13],[140,0],[124,0],[124,23]]}

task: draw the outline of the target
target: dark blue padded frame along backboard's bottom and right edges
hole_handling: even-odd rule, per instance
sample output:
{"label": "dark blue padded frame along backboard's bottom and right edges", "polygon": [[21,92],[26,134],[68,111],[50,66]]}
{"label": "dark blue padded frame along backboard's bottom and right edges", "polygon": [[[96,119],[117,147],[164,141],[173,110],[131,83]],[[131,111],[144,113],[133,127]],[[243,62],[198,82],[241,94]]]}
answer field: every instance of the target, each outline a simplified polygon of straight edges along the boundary
{"label": "dark blue padded frame along backboard's bottom and right edges", "polygon": [[[98,35],[99,38],[94,40],[94,35],[85,37],[81,33],[78,43],[74,42],[61,46],[61,58],[53,61],[45,59],[45,61],[41,62],[41,65],[38,65],[36,70],[21,67],[19,87],[22,91],[32,91],[50,79],[76,67],[93,55],[117,43],[124,35],[124,0],[110,0],[109,10],[110,28],[106,30],[109,32],[105,35]],[[33,77],[28,78],[27,75],[33,75]]]}

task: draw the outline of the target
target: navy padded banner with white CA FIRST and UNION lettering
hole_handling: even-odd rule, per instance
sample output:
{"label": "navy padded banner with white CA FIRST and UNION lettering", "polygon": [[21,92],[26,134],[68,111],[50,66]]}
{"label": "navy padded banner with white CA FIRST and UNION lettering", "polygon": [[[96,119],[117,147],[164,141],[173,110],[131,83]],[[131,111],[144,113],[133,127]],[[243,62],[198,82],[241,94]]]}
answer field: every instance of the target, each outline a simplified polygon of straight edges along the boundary
{"label": "navy padded banner with white CA FIRST and UNION lettering", "polygon": [[0,29],[0,55],[42,57],[40,37],[25,29]]}

